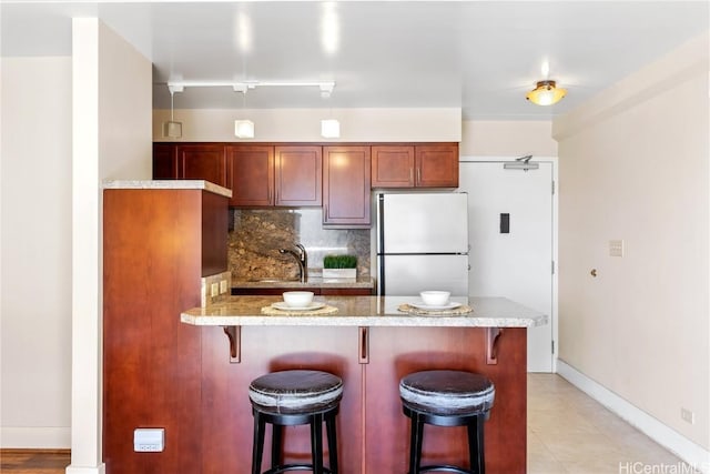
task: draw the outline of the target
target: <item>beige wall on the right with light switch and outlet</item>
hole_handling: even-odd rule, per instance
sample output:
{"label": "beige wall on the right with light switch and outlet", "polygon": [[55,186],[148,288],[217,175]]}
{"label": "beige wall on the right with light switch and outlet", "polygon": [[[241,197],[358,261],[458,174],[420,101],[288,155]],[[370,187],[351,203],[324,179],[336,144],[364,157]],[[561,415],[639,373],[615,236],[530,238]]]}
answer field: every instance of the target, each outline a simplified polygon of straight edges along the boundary
{"label": "beige wall on the right with light switch and outlet", "polygon": [[706,34],[554,122],[560,360],[706,452],[708,69]]}

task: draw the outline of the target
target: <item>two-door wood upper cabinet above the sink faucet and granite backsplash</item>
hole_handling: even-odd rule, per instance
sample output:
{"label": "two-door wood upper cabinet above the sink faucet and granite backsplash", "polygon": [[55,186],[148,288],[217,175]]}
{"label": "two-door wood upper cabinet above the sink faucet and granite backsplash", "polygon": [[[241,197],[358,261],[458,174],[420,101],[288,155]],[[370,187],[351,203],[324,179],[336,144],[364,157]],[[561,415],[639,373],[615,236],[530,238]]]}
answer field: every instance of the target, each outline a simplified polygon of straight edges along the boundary
{"label": "two-door wood upper cabinet above the sink faucet and granite backsplash", "polygon": [[227,145],[232,164],[232,206],[320,206],[322,148]]}

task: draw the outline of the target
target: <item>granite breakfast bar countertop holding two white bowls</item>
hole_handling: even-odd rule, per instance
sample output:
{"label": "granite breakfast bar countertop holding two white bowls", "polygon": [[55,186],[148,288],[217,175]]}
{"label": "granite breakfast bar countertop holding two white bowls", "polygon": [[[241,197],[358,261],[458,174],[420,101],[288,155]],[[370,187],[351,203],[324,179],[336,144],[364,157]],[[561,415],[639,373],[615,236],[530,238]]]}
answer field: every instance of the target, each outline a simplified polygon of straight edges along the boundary
{"label": "granite breakfast bar countertop holding two white bowls", "polygon": [[180,315],[183,323],[219,326],[452,326],[530,327],[548,323],[548,316],[505,297],[453,297],[473,311],[463,315],[415,315],[398,310],[417,296],[316,296],[314,301],[337,307],[335,314],[268,315],[262,307],[282,301],[281,296],[231,296],[207,307],[195,307]]}

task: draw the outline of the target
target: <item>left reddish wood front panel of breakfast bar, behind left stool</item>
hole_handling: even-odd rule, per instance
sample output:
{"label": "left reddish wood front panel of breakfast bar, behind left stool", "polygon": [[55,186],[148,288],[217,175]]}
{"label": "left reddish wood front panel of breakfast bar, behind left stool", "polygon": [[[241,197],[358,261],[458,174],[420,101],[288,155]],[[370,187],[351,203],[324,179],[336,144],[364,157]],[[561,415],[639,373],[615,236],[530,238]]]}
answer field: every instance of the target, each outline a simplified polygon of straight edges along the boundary
{"label": "left reddish wood front panel of breakfast bar, behind left stool", "polygon": [[[359,473],[362,463],[362,366],[357,363],[357,327],[264,327],[241,330],[242,362],[230,364],[221,327],[203,329],[204,462],[203,474],[251,472],[253,418],[250,382],[287,369],[324,370],[343,379],[337,417],[338,456],[343,473]],[[271,431],[266,443],[271,443]],[[307,426],[285,431],[286,461],[311,456]],[[270,446],[267,444],[266,446]],[[324,444],[327,450],[327,444]],[[264,450],[268,453],[268,448]],[[265,454],[264,468],[268,466]],[[187,471],[181,471],[187,472]]]}

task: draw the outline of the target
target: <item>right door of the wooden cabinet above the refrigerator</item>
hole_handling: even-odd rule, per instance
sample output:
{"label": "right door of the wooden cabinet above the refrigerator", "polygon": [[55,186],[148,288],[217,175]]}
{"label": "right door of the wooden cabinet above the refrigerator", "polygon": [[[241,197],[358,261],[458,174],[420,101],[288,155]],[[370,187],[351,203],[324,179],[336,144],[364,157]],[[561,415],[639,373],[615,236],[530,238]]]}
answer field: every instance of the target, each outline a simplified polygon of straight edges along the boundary
{"label": "right door of the wooden cabinet above the refrigerator", "polygon": [[417,188],[458,188],[458,144],[416,145]]}

